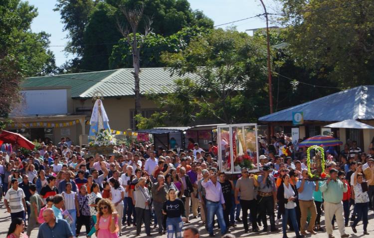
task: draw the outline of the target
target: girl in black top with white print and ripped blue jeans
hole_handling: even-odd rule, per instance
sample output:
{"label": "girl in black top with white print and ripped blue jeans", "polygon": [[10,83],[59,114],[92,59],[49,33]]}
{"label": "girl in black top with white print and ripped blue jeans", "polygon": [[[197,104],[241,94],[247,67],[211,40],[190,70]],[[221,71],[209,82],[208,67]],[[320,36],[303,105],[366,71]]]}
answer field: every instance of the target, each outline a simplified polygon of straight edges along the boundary
{"label": "girl in black top with white print and ripped blue jeans", "polygon": [[168,201],[164,203],[163,214],[167,216],[168,238],[173,238],[173,234],[176,238],[182,238],[182,216],[185,216],[185,205],[182,200],[177,198],[177,193],[174,188],[169,189]]}

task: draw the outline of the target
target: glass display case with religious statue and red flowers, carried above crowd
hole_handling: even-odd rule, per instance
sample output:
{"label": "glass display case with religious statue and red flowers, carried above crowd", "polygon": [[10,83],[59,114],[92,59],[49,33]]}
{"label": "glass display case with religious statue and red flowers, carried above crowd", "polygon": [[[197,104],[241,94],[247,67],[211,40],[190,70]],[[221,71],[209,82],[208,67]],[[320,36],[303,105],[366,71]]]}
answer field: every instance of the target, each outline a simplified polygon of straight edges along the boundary
{"label": "glass display case with religious statue and red flowers, carried above crowd", "polygon": [[258,168],[257,124],[217,126],[218,162],[221,171],[240,174],[241,168]]}

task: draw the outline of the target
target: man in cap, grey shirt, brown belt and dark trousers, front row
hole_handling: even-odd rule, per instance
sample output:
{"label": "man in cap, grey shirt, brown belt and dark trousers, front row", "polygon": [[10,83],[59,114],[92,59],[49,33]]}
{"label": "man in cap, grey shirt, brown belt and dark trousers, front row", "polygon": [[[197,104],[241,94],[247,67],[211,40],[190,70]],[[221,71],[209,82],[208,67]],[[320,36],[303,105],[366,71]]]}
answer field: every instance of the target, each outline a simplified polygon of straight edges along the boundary
{"label": "man in cap, grey shirt, brown belt and dark trousers, front row", "polygon": [[257,181],[259,183],[259,190],[257,195],[257,205],[259,207],[260,218],[264,225],[263,232],[267,232],[267,221],[266,214],[270,217],[270,231],[277,232],[278,229],[275,227],[275,196],[277,188],[274,182],[274,176],[271,175],[270,166],[265,165],[263,167],[263,174],[259,175]]}

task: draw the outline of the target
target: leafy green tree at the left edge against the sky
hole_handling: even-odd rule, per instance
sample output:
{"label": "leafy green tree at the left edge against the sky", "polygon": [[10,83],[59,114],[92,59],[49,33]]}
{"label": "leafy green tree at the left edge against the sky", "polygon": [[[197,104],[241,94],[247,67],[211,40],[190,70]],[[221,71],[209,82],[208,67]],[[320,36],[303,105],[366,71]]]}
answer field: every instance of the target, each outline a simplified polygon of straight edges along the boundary
{"label": "leafy green tree at the left edge against the sky", "polygon": [[34,33],[30,24],[37,9],[20,0],[0,4],[0,117],[7,117],[19,100],[19,83],[25,76],[54,72],[54,55],[48,48],[49,35]]}

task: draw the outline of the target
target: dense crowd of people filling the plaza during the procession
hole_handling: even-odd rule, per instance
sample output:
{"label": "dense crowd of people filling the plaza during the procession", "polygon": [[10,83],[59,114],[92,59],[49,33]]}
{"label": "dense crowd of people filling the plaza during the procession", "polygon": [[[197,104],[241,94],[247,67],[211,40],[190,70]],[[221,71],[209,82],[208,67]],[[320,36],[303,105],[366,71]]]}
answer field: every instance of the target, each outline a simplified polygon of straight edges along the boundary
{"label": "dense crowd of people filling the plaza during the procession", "polygon": [[131,227],[139,236],[144,227],[147,236],[157,229],[168,238],[198,238],[198,229],[186,227],[198,217],[209,237],[215,225],[232,238],[237,223],[251,235],[278,232],[281,223],[283,238],[289,230],[296,238],[319,232],[334,238],[335,224],[347,238],[346,228],[357,233],[360,221],[369,235],[373,145],[368,154],[355,141],[342,151],[325,148],[328,176],[318,181],[310,178],[305,148],[291,138],[277,134],[269,144],[266,138],[258,143],[260,171],[243,167],[240,175],[219,169],[214,143],[203,150],[193,140],[179,153],[147,142],[118,145],[116,157],[91,156],[88,147],[68,145],[65,138],[31,153],[0,151],[0,196],[11,217],[7,237],[26,238],[39,228],[38,238],[75,238],[84,227],[88,238],[118,238]]}

